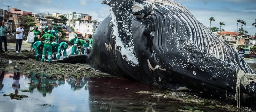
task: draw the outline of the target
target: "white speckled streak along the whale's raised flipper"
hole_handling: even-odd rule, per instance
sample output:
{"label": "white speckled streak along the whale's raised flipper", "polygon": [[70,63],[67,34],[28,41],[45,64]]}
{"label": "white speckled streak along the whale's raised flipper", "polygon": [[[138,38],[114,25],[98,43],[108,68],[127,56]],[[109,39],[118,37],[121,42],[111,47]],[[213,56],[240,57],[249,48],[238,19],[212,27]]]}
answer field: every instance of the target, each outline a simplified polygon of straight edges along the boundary
{"label": "white speckled streak along the whale's raised flipper", "polygon": [[[112,29],[113,29],[113,35],[114,35],[113,38],[114,37],[116,38],[115,39],[116,45],[121,47],[121,50],[119,52],[122,54],[122,56],[126,55],[126,58],[127,58],[126,60],[127,61],[131,61],[131,62],[133,62],[135,64],[134,65],[134,64],[130,63],[130,65],[138,66],[139,65],[139,61],[138,61],[137,56],[135,55],[133,44],[130,44],[130,45],[132,45],[130,47],[126,47],[125,43],[122,42],[122,40],[120,38],[120,35],[118,33],[118,27],[117,27],[118,26],[118,22],[116,20],[116,16],[114,15],[112,7],[110,7],[109,12],[110,12],[110,14],[112,16],[112,20],[110,22],[110,25],[112,26]],[[123,27],[125,28],[125,27],[128,27],[128,26],[123,26]],[[132,35],[131,32],[129,32],[129,33],[130,33],[130,35]],[[131,41],[131,42],[133,43],[133,41]]]}

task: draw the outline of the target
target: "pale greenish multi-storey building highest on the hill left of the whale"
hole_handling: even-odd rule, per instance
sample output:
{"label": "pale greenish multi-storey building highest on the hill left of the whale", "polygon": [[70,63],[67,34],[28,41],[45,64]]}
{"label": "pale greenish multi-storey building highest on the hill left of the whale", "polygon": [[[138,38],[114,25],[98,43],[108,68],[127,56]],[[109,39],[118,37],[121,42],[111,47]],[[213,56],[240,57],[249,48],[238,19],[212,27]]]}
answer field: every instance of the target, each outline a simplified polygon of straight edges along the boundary
{"label": "pale greenish multi-storey building highest on the hill left of the whale", "polygon": [[88,16],[88,14],[82,14],[82,13],[76,13],[76,12],[70,12],[69,14],[63,14],[68,21],[66,21],[66,25],[69,26],[70,24],[74,24],[76,20],[79,20],[81,17]]}

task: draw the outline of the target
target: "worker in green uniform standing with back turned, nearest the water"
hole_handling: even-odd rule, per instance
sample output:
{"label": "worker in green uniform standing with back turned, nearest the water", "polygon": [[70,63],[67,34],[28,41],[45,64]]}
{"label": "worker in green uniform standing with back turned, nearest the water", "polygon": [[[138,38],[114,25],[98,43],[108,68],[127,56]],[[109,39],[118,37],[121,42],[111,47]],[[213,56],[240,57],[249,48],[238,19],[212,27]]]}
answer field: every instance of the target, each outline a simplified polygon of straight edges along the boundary
{"label": "worker in green uniform standing with back turned, nearest the water", "polygon": [[[44,34],[41,37],[41,43],[44,45],[43,55],[41,62],[44,62],[45,54],[48,52],[48,61],[52,63],[52,45],[51,43],[56,40],[56,37],[50,34],[50,30],[47,31],[47,34]],[[44,40],[44,43],[43,43]]]}

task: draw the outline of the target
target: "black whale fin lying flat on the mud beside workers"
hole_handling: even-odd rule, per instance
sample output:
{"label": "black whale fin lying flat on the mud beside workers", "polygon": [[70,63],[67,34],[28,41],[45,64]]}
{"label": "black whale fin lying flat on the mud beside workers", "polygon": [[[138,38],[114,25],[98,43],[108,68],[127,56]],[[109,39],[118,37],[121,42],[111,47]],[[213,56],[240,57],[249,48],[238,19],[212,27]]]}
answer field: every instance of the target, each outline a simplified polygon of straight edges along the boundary
{"label": "black whale fin lying flat on the mud beside workers", "polygon": [[52,60],[55,63],[87,63],[90,54],[73,55],[59,60]]}

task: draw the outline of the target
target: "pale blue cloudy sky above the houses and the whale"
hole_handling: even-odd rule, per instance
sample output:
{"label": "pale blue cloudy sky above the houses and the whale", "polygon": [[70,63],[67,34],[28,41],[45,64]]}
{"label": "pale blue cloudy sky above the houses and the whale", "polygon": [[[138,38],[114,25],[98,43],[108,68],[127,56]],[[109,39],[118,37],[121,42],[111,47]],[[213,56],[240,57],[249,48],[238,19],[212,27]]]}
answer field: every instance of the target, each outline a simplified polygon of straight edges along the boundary
{"label": "pale blue cloudy sky above the houses and the whale", "polygon": [[[84,13],[92,16],[92,20],[102,21],[109,13],[109,6],[101,4],[103,0],[0,0],[0,8],[7,10],[7,5],[23,11],[47,13],[69,12]],[[252,23],[256,19],[256,0],[174,0],[183,4],[201,23],[210,27],[210,17],[214,17],[212,25],[220,28],[224,22],[225,31],[237,31],[237,19],[246,21],[243,26],[249,35],[255,33]],[[241,24],[239,24],[239,28]]]}

